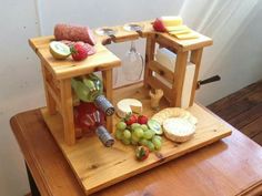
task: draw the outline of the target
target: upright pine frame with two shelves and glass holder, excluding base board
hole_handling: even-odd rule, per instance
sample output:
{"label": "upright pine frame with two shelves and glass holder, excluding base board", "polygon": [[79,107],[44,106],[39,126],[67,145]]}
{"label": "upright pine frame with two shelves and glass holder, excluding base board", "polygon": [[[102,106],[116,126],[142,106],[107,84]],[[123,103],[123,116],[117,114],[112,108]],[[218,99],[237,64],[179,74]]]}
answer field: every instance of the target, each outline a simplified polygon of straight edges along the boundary
{"label": "upright pine frame with two shelves and glass holder, excluding base board", "polygon": [[[95,44],[97,54],[82,62],[74,62],[72,60],[56,61],[49,52],[49,43],[54,39],[53,37],[41,37],[29,40],[31,48],[41,60],[49,114],[53,115],[57,112],[61,114],[64,130],[63,137],[68,145],[75,144],[77,135],[81,136],[81,133],[77,133],[73,123],[71,78],[101,71],[104,94],[109,100],[112,99],[112,69],[119,66],[121,61],[103,47],[103,44],[145,38],[144,85],[152,89],[162,89],[164,97],[171,106],[181,106],[185,66],[191,52],[190,61],[196,66],[190,99],[190,105],[193,104],[202,51],[204,47],[212,44],[212,40],[202,34],[199,34],[199,39],[178,40],[168,33],[155,32],[152,29],[151,21],[138,23],[143,25],[143,30],[140,32],[127,32],[122,27],[118,25],[112,27],[113,29],[118,29],[118,33],[113,38],[98,37],[99,43]],[[175,70],[173,72],[154,61],[157,44],[177,52]],[[153,76],[153,72],[164,76],[172,84],[172,87],[170,89]],[[107,117],[107,128],[110,132],[112,132],[112,117]]]}

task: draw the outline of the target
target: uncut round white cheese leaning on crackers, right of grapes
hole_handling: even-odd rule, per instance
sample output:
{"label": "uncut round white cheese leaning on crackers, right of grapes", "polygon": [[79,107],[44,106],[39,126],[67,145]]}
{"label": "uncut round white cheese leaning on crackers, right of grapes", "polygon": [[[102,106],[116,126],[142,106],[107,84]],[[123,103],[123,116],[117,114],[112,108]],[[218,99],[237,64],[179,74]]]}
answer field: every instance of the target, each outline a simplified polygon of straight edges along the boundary
{"label": "uncut round white cheese leaning on crackers, right of grapes", "polygon": [[185,142],[195,133],[195,125],[183,117],[171,117],[163,122],[164,135],[173,142]]}

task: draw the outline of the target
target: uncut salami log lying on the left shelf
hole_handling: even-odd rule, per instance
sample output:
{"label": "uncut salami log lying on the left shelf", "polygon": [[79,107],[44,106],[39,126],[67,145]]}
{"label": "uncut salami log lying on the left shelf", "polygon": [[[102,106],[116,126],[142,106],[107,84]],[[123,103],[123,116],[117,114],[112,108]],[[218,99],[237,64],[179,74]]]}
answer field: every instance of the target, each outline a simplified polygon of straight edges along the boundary
{"label": "uncut salami log lying on the left shelf", "polygon": [[88,27],[71,25],[71,24],[57,24],[54,27],[56,40],[69,40],[69,41],[83,41],[91,45],[95,44],[93,32]]}

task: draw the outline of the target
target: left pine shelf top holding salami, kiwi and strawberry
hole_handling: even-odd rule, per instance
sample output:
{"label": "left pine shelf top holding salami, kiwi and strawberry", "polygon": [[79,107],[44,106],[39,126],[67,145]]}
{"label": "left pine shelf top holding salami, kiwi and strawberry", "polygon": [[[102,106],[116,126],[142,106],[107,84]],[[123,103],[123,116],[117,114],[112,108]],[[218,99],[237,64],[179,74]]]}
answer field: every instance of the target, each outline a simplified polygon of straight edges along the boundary
{"label": "left pine shelf top holding salami, kiwi and strawberry", "polygon": [[120,66],[120,59],[101,43],[94,45],[95,54],[84,61],[73,61],[72,58],[58,61],[49,52],[49,43],[53,37],[30,39],[30,45],[36,50],[38,56],[44,62],[47,69],[54,75],[56,80],[70,79],[95,71],[109,70]]}

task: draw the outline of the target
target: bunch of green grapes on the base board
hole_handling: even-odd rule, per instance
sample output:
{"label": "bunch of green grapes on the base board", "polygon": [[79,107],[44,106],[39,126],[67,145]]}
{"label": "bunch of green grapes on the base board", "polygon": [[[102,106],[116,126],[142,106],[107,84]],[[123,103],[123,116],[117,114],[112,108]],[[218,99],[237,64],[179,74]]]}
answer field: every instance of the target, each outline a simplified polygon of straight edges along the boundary
{"label": "bunch of green grapes on the base board", "polygon": [[115,137],[125,145],[147,146],[151,152],[162,146],[162,137],[147,124],[133,123],[128,126],[121,121],[117,124]]}

